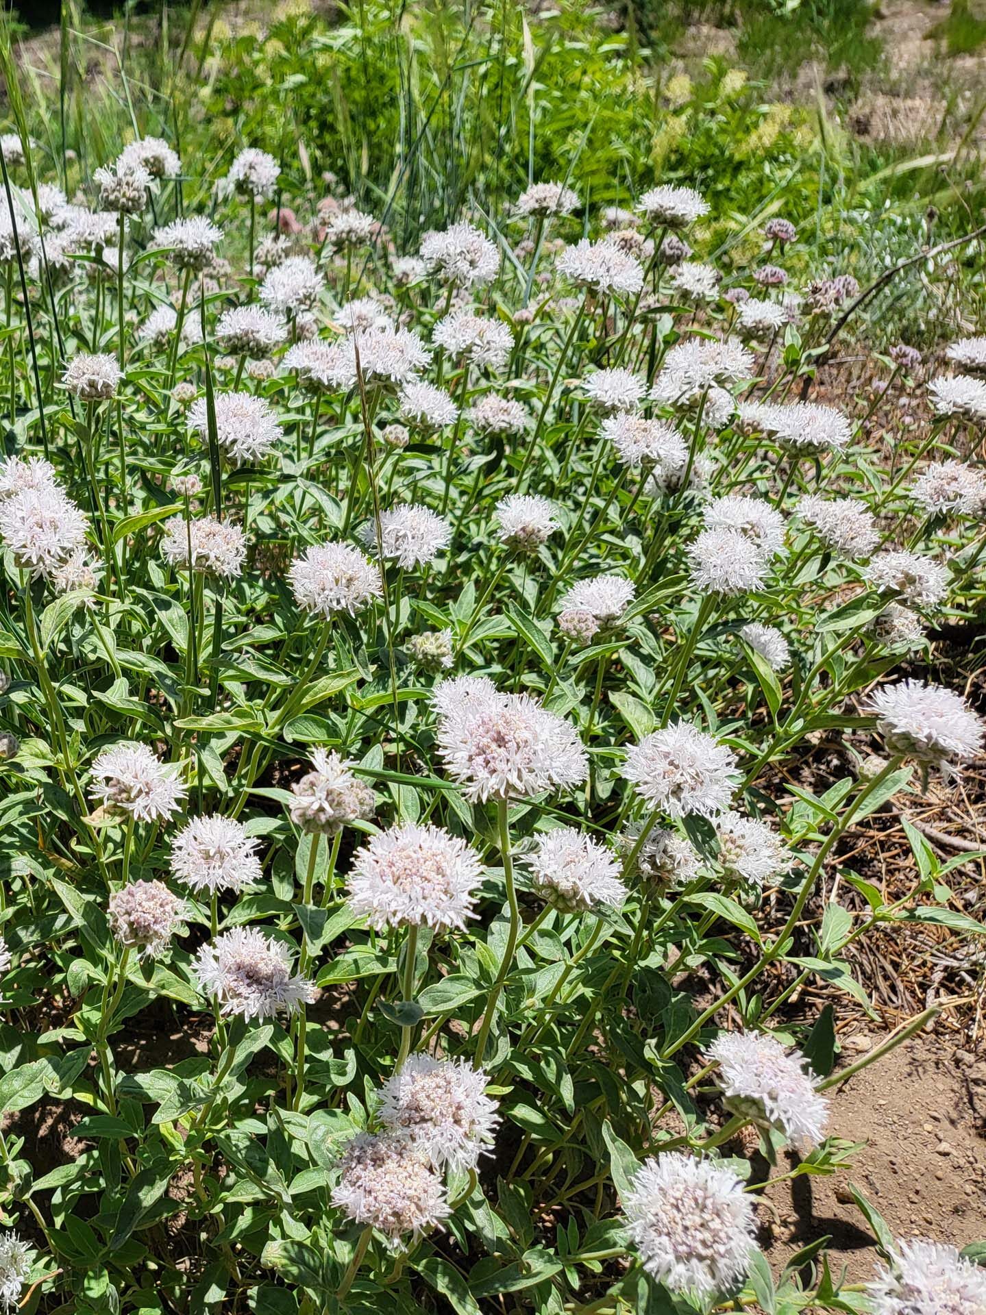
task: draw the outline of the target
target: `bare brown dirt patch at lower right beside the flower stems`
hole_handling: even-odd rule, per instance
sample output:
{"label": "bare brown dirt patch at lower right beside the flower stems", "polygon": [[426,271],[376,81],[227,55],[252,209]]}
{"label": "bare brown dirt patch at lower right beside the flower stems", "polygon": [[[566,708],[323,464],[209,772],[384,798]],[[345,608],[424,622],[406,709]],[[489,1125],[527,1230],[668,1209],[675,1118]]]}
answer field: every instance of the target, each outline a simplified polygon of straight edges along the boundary
{"label": "bare brown dirt patch at lower right beside the flower stems", "polygon": [[[854,1036],[868,1049],[875,1036]],[[781,1268],[808,1241],[832,1237],[833,1276],[873,1277],[875,1237],[845,1189],[852,1181],[898,1239],[931,1237],[965,1247],[986,1239],[986,1059],[956,1051],[935,1036],[915,1038],[849,1078],[831,1103],[831,1131],[866,1144],[849,1174],[803,1176],[778,1184],[767,1198],[767,1256]],[[781,1164],[786,1173],[795,1164]]]}

